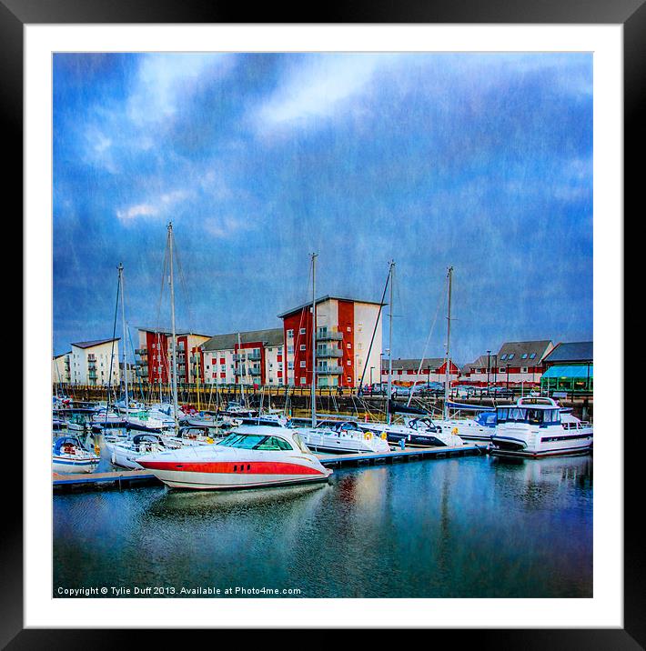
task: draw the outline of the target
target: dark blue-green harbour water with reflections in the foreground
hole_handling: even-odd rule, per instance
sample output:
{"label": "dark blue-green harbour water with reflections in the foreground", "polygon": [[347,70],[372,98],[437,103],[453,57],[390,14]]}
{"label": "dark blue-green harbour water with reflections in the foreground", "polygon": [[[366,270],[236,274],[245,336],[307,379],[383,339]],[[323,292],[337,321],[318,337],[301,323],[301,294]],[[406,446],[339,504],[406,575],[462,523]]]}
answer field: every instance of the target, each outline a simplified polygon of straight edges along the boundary
{"label": "dark blue-green harbour water with reflections in the foreground", "polygon": [[59,586],[591,597],[592,457],[420,461],[235,493],[57,495],[55,596]]}

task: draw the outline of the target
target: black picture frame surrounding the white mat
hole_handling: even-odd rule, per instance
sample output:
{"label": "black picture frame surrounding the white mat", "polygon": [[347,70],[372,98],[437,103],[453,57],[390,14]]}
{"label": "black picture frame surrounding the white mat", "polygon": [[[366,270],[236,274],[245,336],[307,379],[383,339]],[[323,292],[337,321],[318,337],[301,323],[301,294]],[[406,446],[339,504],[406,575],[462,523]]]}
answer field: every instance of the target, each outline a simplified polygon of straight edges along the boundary
{"label": "black picture frame surrounding the white mat", "polygon": [[[253,21],[248,16],[253,15]],[[624,205],[638,205],[637,192],[643,182],[641,158],[646,151],[641,113],[646,95],[646,0],[462,0],[404,3],[327,3],[316,12],[285,4],[247,5],[203,0],[0,0],[0,115],[5,145],[5,205],[12,214],[22,214],[23,175],[23,27],[29,24],[86,23],[442,23],[442,24],[617,24],[623,25],[624,55]],[[631,165],[631,161],[633,164]],[[631,201],[632,199],[632,201]],[[622,227],[618,220],[618,227]],[[17,311],[17,310],[16,310]],[[622,315],[621,315],[622,316]],[[25,346],[25,342],[23,342]],[[622,359],[623,345],[618,346]],[[17,353],[17,351],[16,351]],[[621,412],[623,406],[620,406]],[[620,437],[623,432],[612,432]],[[461,629],[449,631],[464,644],[479,647],[525,647],[528,649],[636,649],[646,646],[646,571],[638,535],[643,511],[639,477],[639,454],[624,457],[624,626],[617,629]],[[22,486],[22,465],[15,464],[10,486]],[[6,485],[5,485],[6,486]],[[0,644],[10,649],[95,649],[129,646],[143,639],[144,631],[24,629],[23,628],[23,513],[22,504],[5,494],[3,544],[0,556]],[[632,518],[632,519],[631,519]],[[44,550],[44,553],[47,553]],[[49,580],[49,577],[44,577]],[[393,627],[396,622],[391,623]],[[465,626],[469,622],[465,621]],[[513,626],[513,622],[510,622]],[[434,631],[433,641],[447,632]],[[146,634],[146,643],[149,642]],[[165,631],[166,643],[183,635]]]}

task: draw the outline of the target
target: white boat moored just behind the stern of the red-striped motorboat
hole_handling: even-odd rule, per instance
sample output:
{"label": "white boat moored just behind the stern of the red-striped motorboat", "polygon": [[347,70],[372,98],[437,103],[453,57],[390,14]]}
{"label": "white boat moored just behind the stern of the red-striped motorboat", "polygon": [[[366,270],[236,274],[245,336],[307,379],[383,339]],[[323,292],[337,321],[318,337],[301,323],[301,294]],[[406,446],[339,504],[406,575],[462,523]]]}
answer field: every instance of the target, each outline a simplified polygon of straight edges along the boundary
{"label": "white boat moored just behind the stern of the red-striped motorboat", "polygon": [[312,450],[318,452],[389,452],[386,435],[375,430],[361,429],[357,423],[322,421],[316,427],[298,427],[295,432]]}

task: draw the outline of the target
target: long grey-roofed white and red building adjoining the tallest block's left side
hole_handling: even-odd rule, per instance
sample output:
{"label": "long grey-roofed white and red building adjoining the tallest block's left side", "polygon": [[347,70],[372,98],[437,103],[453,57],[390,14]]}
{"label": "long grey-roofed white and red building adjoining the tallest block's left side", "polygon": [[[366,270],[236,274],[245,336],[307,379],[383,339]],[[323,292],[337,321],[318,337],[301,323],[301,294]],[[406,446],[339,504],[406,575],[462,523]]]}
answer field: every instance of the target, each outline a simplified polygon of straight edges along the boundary
{"label": "long grey-roofed white and red building adjoining the tallest block's left side", "polygon": [[285,384],[283,329],[216,335],[200,346],[207,385]]}

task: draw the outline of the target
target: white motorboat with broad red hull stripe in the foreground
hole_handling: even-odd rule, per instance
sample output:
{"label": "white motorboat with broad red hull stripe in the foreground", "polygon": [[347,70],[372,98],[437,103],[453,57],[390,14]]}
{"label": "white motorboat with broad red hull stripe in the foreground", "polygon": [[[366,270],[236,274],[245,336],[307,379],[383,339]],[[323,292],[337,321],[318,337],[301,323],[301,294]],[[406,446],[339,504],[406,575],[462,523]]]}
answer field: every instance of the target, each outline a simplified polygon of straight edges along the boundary
{"label": "white motorboat with broad red hull stripe in the foreground", "polygon": [[236,428],[217,445],[140,456],[136,463],[173,488],[230,490],[327,481],[298,433],[287,427]]}

